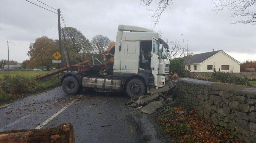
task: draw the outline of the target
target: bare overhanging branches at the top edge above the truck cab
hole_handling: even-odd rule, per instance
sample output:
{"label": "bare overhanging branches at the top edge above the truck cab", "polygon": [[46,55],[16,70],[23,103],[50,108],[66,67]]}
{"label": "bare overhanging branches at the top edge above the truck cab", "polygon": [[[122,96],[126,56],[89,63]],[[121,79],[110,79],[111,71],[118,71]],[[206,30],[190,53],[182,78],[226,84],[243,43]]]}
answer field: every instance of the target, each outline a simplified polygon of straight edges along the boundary
{"label": "bare overhanging branches at the top edge above the truck cab", "polygon": [[[157,1],[157,9],[149,9],[149,11],[152,12],[150,15],[151,19],[153,20],[153,25],[156,26],[159,21],[160,17],[163,13],[163,11],[167,8],[170,7],[173,4],[173,0],[155,0]],[[141,4],[144,6],[149,6],[152,4],[153,0],[141,0]]]}

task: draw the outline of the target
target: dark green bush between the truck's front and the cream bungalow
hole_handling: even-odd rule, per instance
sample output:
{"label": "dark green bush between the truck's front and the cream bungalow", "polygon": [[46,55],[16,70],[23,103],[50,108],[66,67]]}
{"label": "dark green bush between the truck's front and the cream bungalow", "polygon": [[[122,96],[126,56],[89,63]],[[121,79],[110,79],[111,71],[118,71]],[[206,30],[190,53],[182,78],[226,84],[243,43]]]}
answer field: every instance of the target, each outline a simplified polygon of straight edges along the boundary
{"label": "dark green bush between the truck's front and the cream bungalow", "polygon": [[185,69],[183,58],[171,59],[169,71],[172,73],[176,72],[179,77],[186,77],[189,73],[189,71]]}

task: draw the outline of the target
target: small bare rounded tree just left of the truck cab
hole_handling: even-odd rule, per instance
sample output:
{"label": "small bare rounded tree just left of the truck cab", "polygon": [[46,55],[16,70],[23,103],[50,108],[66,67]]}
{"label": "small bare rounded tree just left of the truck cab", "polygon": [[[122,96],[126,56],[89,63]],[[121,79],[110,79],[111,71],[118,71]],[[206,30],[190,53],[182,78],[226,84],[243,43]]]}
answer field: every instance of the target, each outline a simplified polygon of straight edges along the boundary
{"label": "small bare rounded tree just left of the truck cab", "polygon": [[100,51],[99,51],[98,43],[103,48],[103,50],[105,51],[107,49],[107,46],[109,46],[109,44],[111,42],[112,41],[107,36],[103,36],[103,35],[100,35],[100,34],[95,35],[91,40],[91,44],[93,46],[92,53],[99,54]]}

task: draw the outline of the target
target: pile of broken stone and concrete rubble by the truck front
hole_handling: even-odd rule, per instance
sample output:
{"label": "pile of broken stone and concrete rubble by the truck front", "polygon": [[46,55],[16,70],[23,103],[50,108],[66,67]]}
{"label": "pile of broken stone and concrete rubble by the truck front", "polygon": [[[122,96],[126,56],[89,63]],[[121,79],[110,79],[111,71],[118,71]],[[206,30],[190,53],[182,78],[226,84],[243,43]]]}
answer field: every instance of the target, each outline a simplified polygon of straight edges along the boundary
{"label": "pile of broken stone and concrete rubble by the truck front", "polygon": [[132,98],[131,101],[125,104],[129,107],[137,107],[143,113],[152,114],[163,106],[176,106],[178,103],[173,101],[175,94],[176,81],[168,81],[165,87],[152,90],[151,95],[141,95],[137,98]]}

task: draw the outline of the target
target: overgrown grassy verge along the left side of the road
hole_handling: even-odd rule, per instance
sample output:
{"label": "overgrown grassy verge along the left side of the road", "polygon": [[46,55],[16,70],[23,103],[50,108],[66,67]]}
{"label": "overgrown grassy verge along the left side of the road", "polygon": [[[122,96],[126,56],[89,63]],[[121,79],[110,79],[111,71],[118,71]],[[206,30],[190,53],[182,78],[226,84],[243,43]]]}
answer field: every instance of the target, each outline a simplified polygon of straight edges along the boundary
{"label": "overgrown grassy verge along the left side of the road", "polygon": [[22,75],[2,75],[0,78],[0,103],[60,85],[60,79],[57,76],[35,81]]}

